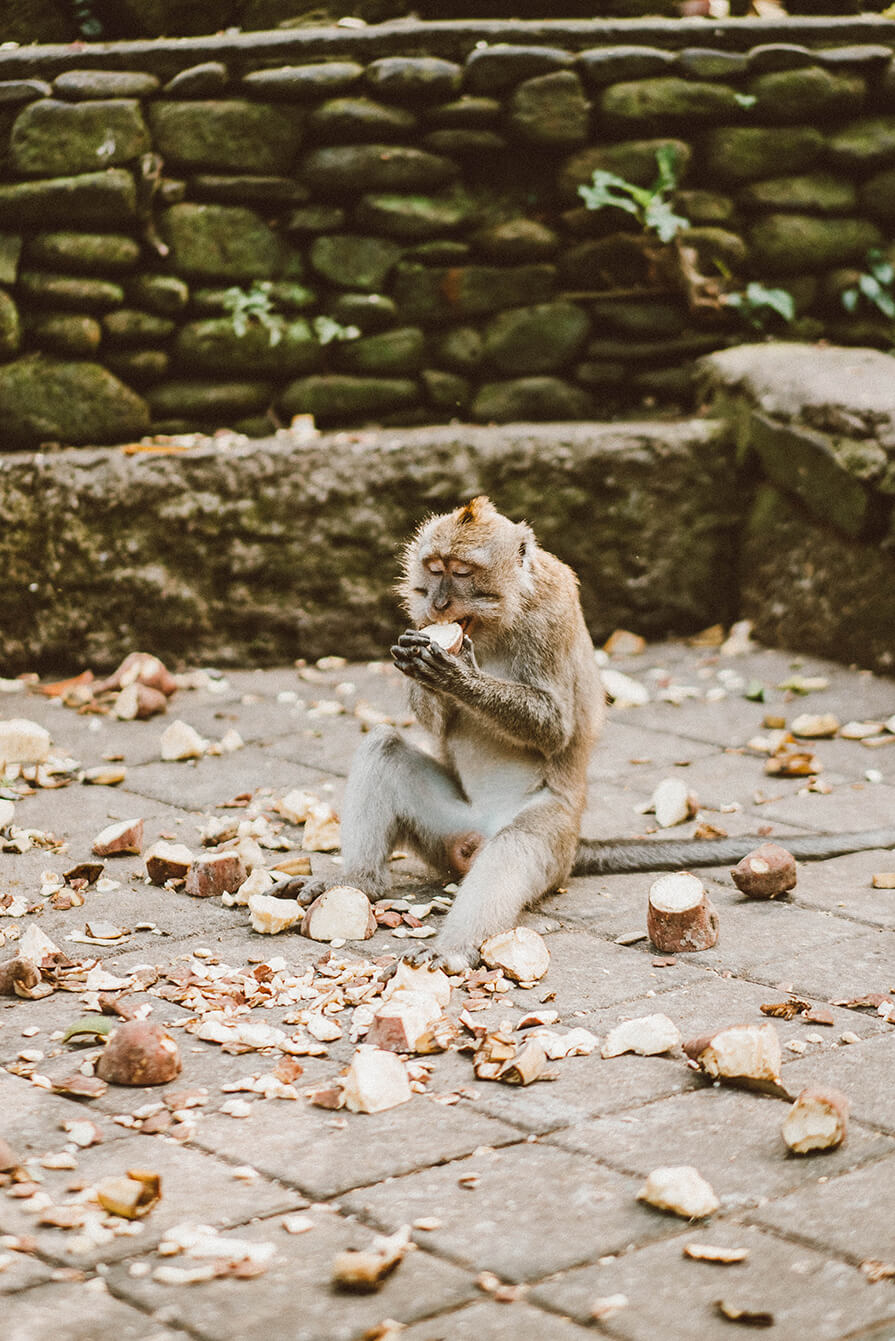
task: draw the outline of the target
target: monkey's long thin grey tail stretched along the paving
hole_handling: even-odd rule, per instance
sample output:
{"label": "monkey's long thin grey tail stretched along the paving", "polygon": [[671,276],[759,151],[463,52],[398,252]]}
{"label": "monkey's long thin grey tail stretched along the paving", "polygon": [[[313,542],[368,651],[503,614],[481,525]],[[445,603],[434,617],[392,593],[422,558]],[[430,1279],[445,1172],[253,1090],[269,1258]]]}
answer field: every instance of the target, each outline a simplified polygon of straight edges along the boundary
{"label": "monkey's long thin grey tail stretched along the paving", "polygon": [[[582,838],[573,876],[621,876],[648,870],[686,870],[688,866],[725,866],[741,861],[761,843],[758,834],[735,838]],[[780,839],[798,861],[824,861],[849,852],[895,848],[895,829],[863,829],[852,834],[796,834]]]}

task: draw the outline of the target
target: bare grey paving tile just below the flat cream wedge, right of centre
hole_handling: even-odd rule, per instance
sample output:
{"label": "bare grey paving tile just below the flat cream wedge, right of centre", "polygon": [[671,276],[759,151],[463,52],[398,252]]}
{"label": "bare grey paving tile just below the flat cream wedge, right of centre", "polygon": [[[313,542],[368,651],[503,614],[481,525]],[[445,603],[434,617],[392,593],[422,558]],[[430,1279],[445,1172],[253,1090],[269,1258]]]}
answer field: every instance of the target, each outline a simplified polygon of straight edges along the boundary
{"label": "bare grey paving tile just below the flat cream wedge, right of centre", "polygon": [[[590,1027],[589,1019],[566,1023]],[[692,1086],[687,1067],[667,1057],[613,1057],[612,1061],[598,1054],[568,1057],[556,1063],[556,1070],[558,1080],[526,1089],[475,1081],[476,1098],[471,1100],[471,1106],[523,1130],[543,1133],[601,1113],[637,1109]]]}

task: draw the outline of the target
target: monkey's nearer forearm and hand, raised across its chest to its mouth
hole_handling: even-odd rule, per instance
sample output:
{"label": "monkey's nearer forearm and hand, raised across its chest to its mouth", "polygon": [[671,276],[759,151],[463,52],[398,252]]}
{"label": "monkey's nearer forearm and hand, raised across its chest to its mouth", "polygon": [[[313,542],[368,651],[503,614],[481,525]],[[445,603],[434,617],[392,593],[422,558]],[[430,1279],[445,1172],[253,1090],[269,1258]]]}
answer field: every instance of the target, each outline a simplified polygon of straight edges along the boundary
{"label": "monkey's nearer forearm and hand, raised across its chest to its mouth", "polygon": [[447,695],[471,709],[511,744],[560,754],[569,743],[570,713],[549,689],[498,680],[475,662],[471,644],[466,656],[452,656],[424,633],[403,633],[392,648],[394,665],[415,684]]}

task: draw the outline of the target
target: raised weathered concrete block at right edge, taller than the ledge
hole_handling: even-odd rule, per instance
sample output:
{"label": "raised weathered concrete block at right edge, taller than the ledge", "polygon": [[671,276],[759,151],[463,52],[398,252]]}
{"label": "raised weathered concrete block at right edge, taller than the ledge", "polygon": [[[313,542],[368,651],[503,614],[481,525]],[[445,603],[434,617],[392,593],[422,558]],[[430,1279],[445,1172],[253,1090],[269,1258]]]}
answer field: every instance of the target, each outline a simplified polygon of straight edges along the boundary
{"label": "raised weathered concrete block at right edge, taller than the ledge", "polygon": [[759,481],[742,536],[742,613],[768,642],[895,665],[895,358],[774,343],[700,362]]}

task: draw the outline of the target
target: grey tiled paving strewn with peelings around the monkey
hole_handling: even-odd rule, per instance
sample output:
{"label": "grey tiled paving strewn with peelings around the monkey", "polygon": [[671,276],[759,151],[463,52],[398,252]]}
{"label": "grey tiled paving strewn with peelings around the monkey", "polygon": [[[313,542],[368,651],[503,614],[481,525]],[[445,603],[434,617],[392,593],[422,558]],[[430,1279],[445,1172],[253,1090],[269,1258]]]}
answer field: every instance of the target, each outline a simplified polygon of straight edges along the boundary
{"label": "grey tiled paving strewn with peelings around the monkey", "polygon": [[[816,742],[820,790],[806,778],[766,776],[764,756],[745,748],[766,713],[788,721],[828,711],[841,721],[886,719],[895,712],[892,681],[785,653],[721,658],[679,644],[613,665],[647,685],[651,701],[612,711],[593,759],[586,833],[648,829],[651,817],[639,807],[666,776],[684,778],[699,798],[699,819],[730,833],[762,831],[785,842],[792,833],[892,822],[895,736],[879,750],[840,738]],[[778,688],[793,673],[824,676],[828,687],[806,696]],[[765,687],[765,703],[745,697],[751,681]],[[98,957],[114,975],[106,982],[123,982],[130,1002],[150,1004],[152,1019],[172,1026],[182,1055],[182,1074],[161,1090],[110,1086],[95,1100],[58,1096],[47,1082],[97,1055],[91,1039],[62,1042],[64,1027],[95,1008],[97,979],[75,974],[74,991],[0,999],[0,1132],[39,1184],[13,1181],[0,1191],[5,1341],[341,1341],[399,1332],[407,1341],[570,1341],[585,1333],[711,1341],[737,1334],[737,1324],[719,1316],[719,1299],[770,1311],[769,1334],[781,1341],[891,1341],[895,1281],[872,1282],[861,1265],[895,1263],[895,1030],[874,1010],[831,1003],[895,990],[895,890],[871,886],[872,873],[895,869],[892,853],[804,865],[793,897],[776,904],[745,902],[726,870],[708,872],[721,939],[674,963],[645,939],[623,943],[644,929],[649,877],[576,880],[527,916],[550,948],[547,976],[533,988],[501,983],[509,990],[474,992],[476,1022],[515,1022],[539,1006],[558,1011],[560,1031],[582,1026],[601,1037],[621,1019],[655,1011],[671,1016],[684,1038],[759,1022],[761,1003],[790,991],[827,1006],[832,1026],[774,1022],[788,1089],[827,1082],[852,1104],[845,1145],[805,1159],[785,1153],[784,1101],[704,1086],[680,1051],[568,1058],[556,1063],[554,1081],[515,1089],[478,1081],[468,1054],[451,1050],[423,1058],[428,1084],[417,1069],[420,1092],[400,1108],[369,1116],[311,1106],[306,1090],[334,1077],[354,1051],[352,1002],[370,982],[344,966],[361,956],[386,964],[407,944],[389,928],[326,960],[326,947],[295,933],[255,935],[244,908],[148,885],[140,857],[109,860],[105,876],[114,888],[89,888],[82,907],[56,909],[42,900],[42,873],[87,858],[110,819],[142,817],[146,843],[169,834],[197,850],[209,815],[276,818],[272,802],[293,787],[338,805],[360,736],[360,700],[403,715],[399,677],[382,666],[233,673],[212,688],[178,691],[168,719],[146,723],[79,715],[31,693],[0,695],[0,717],[44,721],[56,752],[68,751],[85,767],[107,755],[126,763],[115,789],[72,782],[17,801],[15,823],[52,831],[64,848],[0,852],[0,898],[38,905],[24,917],[0,915],[7,937],[0,957],[13,951],[16,932],[32,925],[72,959]],[[348,711],[337,715],[326,704]],[[235,728],[244,748],[199,763],[161,763],[158,739],[173,716],[207,738]],[[250,805],[221,809],[238,797]],[[691,833],[699,819],[675,835]],[[301,842],[295,826],[284,825],[280,835],[291,846]],[[270,865],[283,856],[264,853]],[[314,857],[321,869],[331,861]],[[394,870],[401,894],[413,898],[421,889],[421,901],[431,900],[432,888],[421,886],[409,862],[397,861]],[[433,909],[423,925],[437,916]],[[67,939],[87,923],[114,923],[127,935],[99,947]],[[162,971],[148,990],[141,984],[152,982],[150,972],[133,976],[141,964]],[[242,1010],[240,1018],[307,1043],[302,1022],[309,1000],[319,1018],[327,974],[329,1018],[341,1022],[342,1037],[317,1043],[322,1055],[299,1057],[298,1100],[223,1090],[278,1063],[280,1075],[290,1073],[278,1047],[224,1051],[189,1031],[220,1004],[215,992]],[[451,1014],[467,1003],[458,984]],[[204,1102],[187,1106],[193,1100]],[[242,1112],[248,1116],[231,1116]],[[102,1144],[70,1141],[75,1133],[62,1124],[72,1118],[93,1121]],[[170,1125],[146,1134],[144,1121]],[[663,1164],[694,1164],[711,1181],[721,1199],[711,1220],[691,1226],[637,1202],[644,1176]],[[133,1224],[95,1214],[90,1189],[131,1168],[161,1175],[158,1206]],[[67,1203],[86,1208],[85,1224],[40,1223],[59,1219],[55,1208]],[[295,1215],[303,1219],[290,1219]],[[275,1255],[255,1278],[168,1283],[160,1267],[203,1265],[157,1251],[185,1222],[263,1240]],[[284,1222],[303,1232],[287,1232]],[[405,1224],[413,1226],[417,1248],[380,1293],[330,1289],[337,1251]],[[690,1261],[683,1247],[691,1242],[745,1247],[749,1258],[735,1266]],[[615,1295],[615,1311],[594,1321],[594,1302]],[[381,1326],[385,1320],[393,1325]]]}

